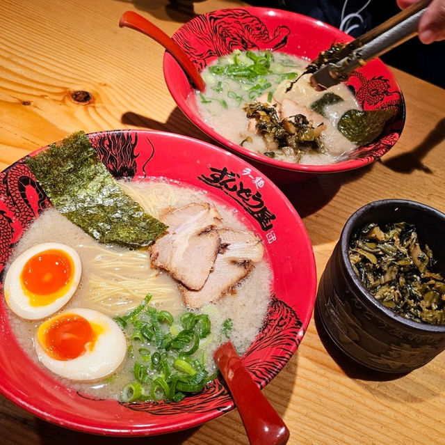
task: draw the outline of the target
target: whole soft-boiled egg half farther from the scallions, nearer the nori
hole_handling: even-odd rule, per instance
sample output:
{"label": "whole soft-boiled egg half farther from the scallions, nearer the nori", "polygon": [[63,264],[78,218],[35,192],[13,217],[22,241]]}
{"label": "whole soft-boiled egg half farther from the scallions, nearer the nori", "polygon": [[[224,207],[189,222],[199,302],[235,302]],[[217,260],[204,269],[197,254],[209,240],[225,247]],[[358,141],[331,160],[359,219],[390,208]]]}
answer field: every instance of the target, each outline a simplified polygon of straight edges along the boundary
{"label": "whole soft-boiled egg half farther from the scallions, nearer the nori", "polygon": [[81,279],[81,259],[72,247],[46,242],[21,253],[5,276],[10,309],[26,320],[39,320],[61,309]]}

